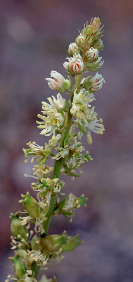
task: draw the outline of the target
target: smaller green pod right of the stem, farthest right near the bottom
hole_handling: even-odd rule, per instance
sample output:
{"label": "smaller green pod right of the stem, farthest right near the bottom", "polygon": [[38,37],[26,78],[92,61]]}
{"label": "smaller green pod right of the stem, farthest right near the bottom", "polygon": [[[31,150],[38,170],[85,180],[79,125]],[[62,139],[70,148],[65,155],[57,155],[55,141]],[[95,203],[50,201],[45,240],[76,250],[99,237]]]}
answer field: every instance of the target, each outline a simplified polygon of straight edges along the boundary
{"label": "smaller green pod right of the stem, farthest right near the bottom", "polygon": [[79,240],[79,235],[77,234],[75,237],[68,236],[68,242],[62,244],[62,252],[70,252],[73,251],[78,245],[82,244],[82,241]]}

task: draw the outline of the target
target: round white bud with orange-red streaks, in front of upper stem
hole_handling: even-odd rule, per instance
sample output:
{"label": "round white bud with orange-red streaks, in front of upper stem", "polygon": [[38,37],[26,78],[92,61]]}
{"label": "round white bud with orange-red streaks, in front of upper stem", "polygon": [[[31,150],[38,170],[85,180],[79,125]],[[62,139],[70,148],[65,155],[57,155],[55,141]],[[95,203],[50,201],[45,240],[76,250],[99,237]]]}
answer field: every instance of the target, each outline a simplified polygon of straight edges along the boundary
{"label": "round white bud with orange-red streaks, in front of upper stem", "polygon": [[84,63],[80,54],[76,56],[73,55],[72,58],[66,58],[66,59],[68,59],[68,62],[64,62],[63,66],[68,71],[69,74],[75,75],[83,71]]}

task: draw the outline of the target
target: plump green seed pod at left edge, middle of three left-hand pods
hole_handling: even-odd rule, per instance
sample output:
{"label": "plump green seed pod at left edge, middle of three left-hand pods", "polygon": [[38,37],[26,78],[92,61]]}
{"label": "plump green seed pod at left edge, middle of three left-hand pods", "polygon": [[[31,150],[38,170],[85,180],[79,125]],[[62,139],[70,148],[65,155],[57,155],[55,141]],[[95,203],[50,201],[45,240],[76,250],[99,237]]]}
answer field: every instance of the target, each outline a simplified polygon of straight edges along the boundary
{"label": "plump green seed pod at left edge, middle of three left-hand pods", "polygon": [[[21,220],[19,219],[19,215],[10,214],[11,222],[11,233],[17,238],[18,235],[21,236],[24,240],[28,241],[28,231],[24,225],[21,224]],[[20,239],[21,239],[20,238]]]}

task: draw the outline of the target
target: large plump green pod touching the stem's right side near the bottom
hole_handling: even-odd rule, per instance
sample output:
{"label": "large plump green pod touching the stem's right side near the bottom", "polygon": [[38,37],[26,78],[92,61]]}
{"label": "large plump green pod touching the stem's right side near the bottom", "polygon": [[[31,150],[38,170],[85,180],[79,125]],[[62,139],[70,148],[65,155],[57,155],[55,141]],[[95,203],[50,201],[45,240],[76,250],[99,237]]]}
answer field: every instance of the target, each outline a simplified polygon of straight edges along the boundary
{"label": "large plump green pod touching the stem's right side near the bottom", "polygon": [[66,232],[61,235],[47,235],[45,238],[40,239],[39,249],[43,254],[58,251],[62,244],[67,240]]}

